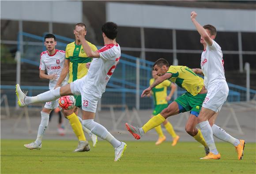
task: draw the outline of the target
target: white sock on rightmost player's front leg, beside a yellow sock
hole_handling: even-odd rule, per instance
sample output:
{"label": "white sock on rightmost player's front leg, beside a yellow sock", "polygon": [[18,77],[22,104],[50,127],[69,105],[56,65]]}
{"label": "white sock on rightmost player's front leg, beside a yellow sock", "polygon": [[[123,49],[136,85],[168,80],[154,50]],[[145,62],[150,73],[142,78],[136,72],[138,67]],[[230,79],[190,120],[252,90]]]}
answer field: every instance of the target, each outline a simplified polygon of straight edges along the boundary
{"label": "white sock on rightmost player's front leg, beside a yellow sock", "polygon": [[208,145],[210,152],[217,155],[218,150],[215,146],[213,134],[211,130],[211,126],[209,124],[209,121],[203,121],[201,123],[198,123],[198,126],[200,127],[201,133],[203,135],[204,140],[206,141],[206,144]]}

